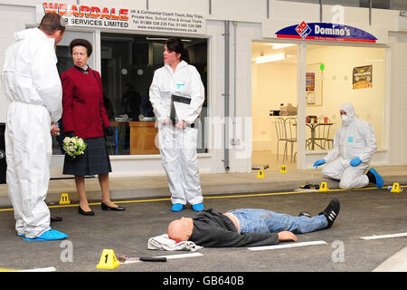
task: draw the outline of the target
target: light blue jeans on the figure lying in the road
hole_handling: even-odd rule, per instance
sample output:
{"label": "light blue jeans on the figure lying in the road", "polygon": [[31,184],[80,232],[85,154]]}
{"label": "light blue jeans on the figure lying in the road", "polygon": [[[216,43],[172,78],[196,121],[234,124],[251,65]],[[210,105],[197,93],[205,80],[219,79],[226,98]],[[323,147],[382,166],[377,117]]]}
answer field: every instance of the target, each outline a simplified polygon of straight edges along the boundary
{"label": "light blue jeans on the figure lying in the road", "polygon": [[304,234],[327,227],[324,215],[293,217],[260,208],[239,208],[228,212],[238,218],[241,233],[279,233],[288,230]]}

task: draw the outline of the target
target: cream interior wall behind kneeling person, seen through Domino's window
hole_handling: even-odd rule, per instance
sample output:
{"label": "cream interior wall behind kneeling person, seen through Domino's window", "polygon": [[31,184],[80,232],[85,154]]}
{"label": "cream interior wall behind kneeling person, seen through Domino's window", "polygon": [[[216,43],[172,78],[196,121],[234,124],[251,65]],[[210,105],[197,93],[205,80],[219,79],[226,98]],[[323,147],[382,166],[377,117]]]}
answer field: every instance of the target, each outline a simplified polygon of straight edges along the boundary
{"label": "cream interior wall behind kneeling person, seen through Domino's window", "polygon": [[[383,60],[369,62],[368,60]],[[384,147],[385,121],[385,48],[324,46],[307,51],[307,63],[324,63],[323,106],[308,107],[307,115],[328,117],[336,123],[333,133],[341,125],[339,107],[345,102],[355,106],[356,116],[374,127],[380,149]],[[373,87],[353,90],[353,68],[373,65]]]}

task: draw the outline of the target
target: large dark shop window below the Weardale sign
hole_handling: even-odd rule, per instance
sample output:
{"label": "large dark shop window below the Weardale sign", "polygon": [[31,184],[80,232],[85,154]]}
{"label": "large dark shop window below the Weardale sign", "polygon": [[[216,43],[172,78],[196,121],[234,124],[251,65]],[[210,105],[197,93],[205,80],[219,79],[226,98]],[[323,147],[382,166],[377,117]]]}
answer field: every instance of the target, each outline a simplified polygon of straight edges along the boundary
{"label": "large dark shop window below the Weardale sign", "polygon": [[[100,35],[101,77],[109,120],[116,136],[109,140],[111,155],[159,154],[156,120],[149,102],[149,88],[156,69],[164,65],[167,36],[137,34]],[[207,39],[183,37],[190,64],[201,74],[207,94]],[[197,152],[204,145],[207,98],[201,113]]]}

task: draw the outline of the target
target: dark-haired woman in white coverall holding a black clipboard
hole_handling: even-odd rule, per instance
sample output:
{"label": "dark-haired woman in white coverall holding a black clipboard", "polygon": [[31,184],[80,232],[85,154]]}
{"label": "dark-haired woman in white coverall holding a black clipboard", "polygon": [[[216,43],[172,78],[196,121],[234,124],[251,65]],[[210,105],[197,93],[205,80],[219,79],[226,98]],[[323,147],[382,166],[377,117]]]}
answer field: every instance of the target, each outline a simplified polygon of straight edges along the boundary
{"label": "dark-haired woman in white coverall holding a black clipboard", "polygon": [[161,160],[171,191],[173,211],[186,203],[204,209],[196,145],[197,119],[204,103],[204,84],[188,51],[177,37],[166,41],[165,65],[156,70],[149,96],[158,121]]}

